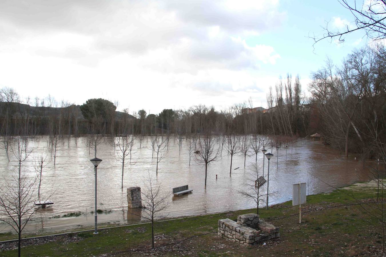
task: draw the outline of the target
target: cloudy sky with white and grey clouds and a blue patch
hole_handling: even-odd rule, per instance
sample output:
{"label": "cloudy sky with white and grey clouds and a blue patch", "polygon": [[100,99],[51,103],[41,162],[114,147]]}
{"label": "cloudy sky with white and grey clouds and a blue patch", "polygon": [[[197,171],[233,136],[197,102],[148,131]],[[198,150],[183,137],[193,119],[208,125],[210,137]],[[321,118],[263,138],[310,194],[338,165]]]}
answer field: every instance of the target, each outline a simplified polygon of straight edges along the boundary
{"label": "cloudy sky with white and grey clouds and a blue patch", "polygon": [[318,43],[330,21],[351,17],[337,2],[290,0],[1,0],[0,87],[82,104],[159,113],[195,104],[226,108],[252,97],[266,107],[279,76],[310,73],[366,44]]}

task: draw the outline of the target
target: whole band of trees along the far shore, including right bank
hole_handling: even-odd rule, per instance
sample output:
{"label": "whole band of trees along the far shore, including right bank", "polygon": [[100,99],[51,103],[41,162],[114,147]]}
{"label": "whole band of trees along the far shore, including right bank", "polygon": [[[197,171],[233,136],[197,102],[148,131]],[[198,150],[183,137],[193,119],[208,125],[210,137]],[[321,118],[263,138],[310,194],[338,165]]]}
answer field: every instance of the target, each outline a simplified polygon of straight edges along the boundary
{"label": "whole band of trees along the far shore, including right bank", "polygon": [[[381,156],[385,151],[385,50],[366,47],[349,54],[341,66],[327,60],[313,72],[308,85],[310,97],[302,92],[300,77],[280,78],[267,93],[267,109],[249,113],[252,100],[227,109],[196,105],[188,109],[164,109],[147,114],[142,109],[132,115],[128,109],[116,111],[118,103],[88,99],[77,106],[68,101],[21,99],[12,88],[0,90],[0,134],[2,148],[14,135],[81,136],[85,134],[157,135],[183,137],[212,133],[266,134],[276,143],[319,133],[327,144],[347,155]],[[376,146],[376,148],[374,148]]]}

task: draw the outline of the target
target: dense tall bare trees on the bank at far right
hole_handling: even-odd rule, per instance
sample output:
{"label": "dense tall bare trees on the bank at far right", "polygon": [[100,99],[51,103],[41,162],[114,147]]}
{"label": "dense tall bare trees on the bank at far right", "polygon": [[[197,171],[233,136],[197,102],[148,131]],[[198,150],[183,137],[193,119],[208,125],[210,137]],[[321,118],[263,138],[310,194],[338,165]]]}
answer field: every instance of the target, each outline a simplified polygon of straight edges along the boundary
{"label": "dense tall bare trees on the bank at far right", "polygon": [[325,141],[348,153],[386,155],[386,51],[383,45],[354,50],[340,65],[327,60],[312,73],[309,91]]}

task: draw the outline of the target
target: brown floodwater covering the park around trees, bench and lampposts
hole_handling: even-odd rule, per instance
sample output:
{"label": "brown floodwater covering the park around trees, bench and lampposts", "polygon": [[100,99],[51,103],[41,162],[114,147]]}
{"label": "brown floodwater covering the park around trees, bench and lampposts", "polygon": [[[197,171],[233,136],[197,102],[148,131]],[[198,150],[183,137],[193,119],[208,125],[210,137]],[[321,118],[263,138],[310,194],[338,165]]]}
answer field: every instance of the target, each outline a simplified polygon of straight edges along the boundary
{"label": "brown floodwater covering the park around trees, bench and lampposts", "polygon": [[[63,145],[58,148],[56,165],[54,161],[46,166],[42,175],[41,193],[51,195],[49,200],[54,205],[38,210],[34,221],[27,230],[60,230],[74,228],[79,225],[92,225],[95,204],[95,177],[94,168],[90,162],[94,158],[93,150],[89,154],[86,138],[74,138],[69,141],[64,139]],[[139,148],[137,139],[135,148]],[[207,186],[204,186],[205,167],[195,163],[193,157],[189,166],[189,151],[186,141],[183,141],[181,152],[177,140],[171,137],[169,151],[165,158],[158,163],[156,176],[156,158],[152,158],[151,138],[142,140],[141,148],[132,156],[135,165],[126,165],[124,171],[124,189],[121,189],[122,163],[114,157],[114,149],[106,140],[98,146],[97,157],[103,161],[98,166],[98,209],[112,210],[110,214],[98,215],[98,222],[132,223],[140,221],[136,215],[127,208],[126,189],[130,186],[144,186],[146,177],[150,174],[161,185],[164,192],[171,188],[189,185],[193,193],[180,197],[170,196],[168,217],[190,216],[215,213],[229,210],[239,210],[255,207],[254,202],[243,198],[239,191],[250,184],[251,163],[255,156],[247,156],[244,168],[244,156],[233,157],[232,176],[230,176],[230,156],[224,147],[222,158],[208,166]],[[30,148],[35,148],[29,159],[23,163],[22,170],[34,175],[32,166],[33,156],[47,149],[47,139],[37,138],[29,143]],[[301,140],[297,146],[272,149],[274,154],[269,167],[269,205],[285,202],[292,199],[292,184],[306,182],[308,194],[331,191],[332,186],[343,186],[356,181],[370,179],[368,168],[362,169],[362,162],[354,160],[353,156],[345,158],[339,151],[324,146],[320,141]],[[271,152],[271,149],[268,149]],[[48,158],[50,153],[46,152]],[[8,162],[4,151],[0,152],[2,169],[0,176],[8,179],[17,170],[17,161]],[[277,158],[278,157],[278,158]],[[262,167],[263,154],[257,156],[257,163]],[[268,161],[264,161],[264,174],[267,173]],[[375,162],[373,162],[374,165]],[[240,167],[235,170],[235,168]],[[262,170],[259,171],[262,173]],[[217,175],[217,179],[216,179]],[[324,182],[323,182],[324,181]],[[0,185],[3,182],[0,182]],[[327,183],[327,184],[326,184]],[[262,187],[266,190],[266,184]],[[137,210],[139,211],[139,210]],[[53,218],[71,212],[83,212],[84,215],[72,218]],[[8,231],[4,224],[0,224],[0,232]]]}

